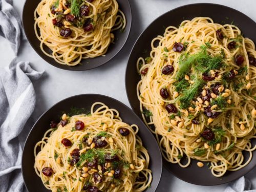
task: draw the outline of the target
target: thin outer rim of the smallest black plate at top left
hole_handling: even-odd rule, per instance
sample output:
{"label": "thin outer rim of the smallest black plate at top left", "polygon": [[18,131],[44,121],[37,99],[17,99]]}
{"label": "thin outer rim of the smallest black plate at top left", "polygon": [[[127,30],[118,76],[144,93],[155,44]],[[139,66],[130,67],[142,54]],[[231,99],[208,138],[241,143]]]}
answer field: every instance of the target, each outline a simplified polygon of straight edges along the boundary
{"label": "thin outer rim of the smallest black plate at top left", "polygon": [[[123,42],[123,44],[122,44],[122,46],[117,50],[117,52],[115,52],[109,59],[106,59],[104,62],[102,62],[102,64],[101,65],[99,65],[99,66],[96,66],[96,67],[91,67],[91,68],[88,68],[88,69],[76,69],[75,68],[75,66],[68,66],[68,65],[61,65],[60,63],[58,63],[59,65],[53,65],[51,62],[48,62],[47,61],[47,59],[46,58],[44,58],[44,57],[42,57],[41,56],[41,54],[44,54],[44,53],[38,53],[37,52],[37,50],[36,50],[36,46],[34,45],[34,44],[32,44],[32,41],[30,40],[30,38],[28,38],[28,32],[27,32],[27,30],[25,29],[25,27],[24,27],[24,20],[26,20],[25,19],[25,6],[27,6],[27,4],[29,3],[29,1],[31,1],[31,0],[26,0],[25,1],[25,3],[24,3],[24,5],[23,5],[23,10],[22,10],[22,18],[21,18],[21,20],[22,20],[22,26],[23,26],[23,30],[24,30],[24,34],[25,34],[25,36],[26,36],[26,38],[27,38],[27,40],[28,40],[28,42],[29,42],[29,45],[33,48],[33,50],[36,52],[36,54],[41,58],[41,59],[43,59],[45,62],[47,62],[49,65],[51,65],[51,66],[53,66],[53,67],[56,67],[56,68],[58,68],[58,69],[61,69],[61,70],[66,70],[66,71],[88,71],[88,70],[92,70],[92,69],[96,69],[96,68],[99,68],[99,67],[101,67],[101,66],[103,66],[103,65],[105,65],[106,63],[109,63],[112,59],[114,59],[114,57],[116,57],[117,56],[117,54],[123,49],[123,47],[126,45],[126,42],[127,42],[127,40],[128,40],[128,38],[130,37],[130,34],[131,34],[131,29],[132,29],[132,23],[133,23],[133,14],[132,14],[132,9],[131,9],[131,4],[130,4],[130,1],[129,0],[125,0],[127,3],[128,3],[128,9],[129,9],[129,14],[131,15],[131,22],[129,22],[128,24],[129,25],[127,25],[127,20],[126,20],[126,27],[128,26],[128,32],[127,32],[127,35],[125,36],[125,38],[124,38],[124,42]],[[32,0],[33,1],[33,0]],[[39,1],[41,1],[41,0],[39,0]],[[119,1],[123,1],[123,0],[116,0],[117,2],[119,2]],[[118,3],[119,4],[119,3]],[[33,23],[33,25],[34,25],[34,23]],[[126,28],[125,27],[125,28]],[[34,33],[34,32],[33,32]],[[115,39],[115,38],[114,38]],[[36,38],[36,40],[38,40],[37,38]],[[39,40],[38,40],[39,41]],[[108,47],[109,48],[109,47]],[[107,54],[108,53],[108,51],[105,53],[105,54]],[[45,55],[45,54],[44,54]],[[47,55],[46,55],[47,56]],[[47,57],[49,57],[49,56],[47,56]],[[103,57],[102,55],[101,56],[98,56],[98,57]],[[49,58],[51,58],[51,57],[49,57]],[[97,57],[95,57],[95,58],[97,58]],[[53,58],[51,58],[51,59],[53,59]],[[94,59],[94,58],[89,58],[89,59]],[[82,59],[83,60],[83,59]],[[53,59],[53,61],[55,61],[54,59]],[[79,64],[77,64],[77,65],[79,65]],[[82,65],[86,65],[86,64],[82,64]],[[90,64],[89,64],[90,65]],[[64,66],[64,67],[63,67]],[[61,67],[63,67],[63,68],[61,68]]]}

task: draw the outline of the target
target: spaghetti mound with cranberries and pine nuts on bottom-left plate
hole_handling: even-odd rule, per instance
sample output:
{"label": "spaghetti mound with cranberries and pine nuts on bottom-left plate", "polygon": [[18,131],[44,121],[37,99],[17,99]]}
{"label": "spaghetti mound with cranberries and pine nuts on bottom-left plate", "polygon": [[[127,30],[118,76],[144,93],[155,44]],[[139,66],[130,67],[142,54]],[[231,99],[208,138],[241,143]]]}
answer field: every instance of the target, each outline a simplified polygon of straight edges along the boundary
{"label": "spaghetti mound with cranberries and pine nuts on bottom-left plate", "polygon": [[118,111],[96,102],[90,114],[63,114],[51,127],[34,148],[35,171],[46,188],[143,191],[150,186],[150,157],[138,126],[122,122]]}

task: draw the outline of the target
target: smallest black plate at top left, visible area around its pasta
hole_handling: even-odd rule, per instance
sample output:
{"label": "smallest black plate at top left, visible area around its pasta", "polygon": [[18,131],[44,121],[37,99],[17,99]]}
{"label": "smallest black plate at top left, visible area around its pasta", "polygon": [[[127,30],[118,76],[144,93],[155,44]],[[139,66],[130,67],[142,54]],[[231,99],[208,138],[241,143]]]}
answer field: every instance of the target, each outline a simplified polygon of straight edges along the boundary
{"label": "smallest black plate at top left, visible area around its pasta", "polygon": [[[105,53],[105,56],[99,56],[95,58],[88,58],[88,59],[82,59],[81,63],[82,65],[77,66],[67,66],[67,65],[61,65],[57,63],[53,58],[48,57],[45,55],[41,49],[40,49],[40,41],[37,39],[35,32],[34,32],[34,11],[37,7],[37,5],[41,2],[41,0],[27,0],[24,8],[23,8],[23,27],[25,34],[30,42],[30,45],[33,47],[35,52],[43,59],[45,59],[48,63],[51,65],[65,70],[70,71],[84,71],[84,70],[90,70],[93,68],[97,68],[99,66],[102,66],[104,63],[110,61],[124,46],[132,25],[132,11],[130,7],[129,0],[117,0],[119,9],[124,13],[126,18],[126,27],[123,32],[117,30],[114,31],[115,35],[115,44],[111,44],[108,48],[108,51]],[[39,29],[37,28],[39,31]],[[45,46],[45,50],[47,53],[51,54],[51,50]]]}

